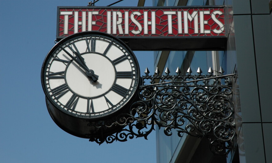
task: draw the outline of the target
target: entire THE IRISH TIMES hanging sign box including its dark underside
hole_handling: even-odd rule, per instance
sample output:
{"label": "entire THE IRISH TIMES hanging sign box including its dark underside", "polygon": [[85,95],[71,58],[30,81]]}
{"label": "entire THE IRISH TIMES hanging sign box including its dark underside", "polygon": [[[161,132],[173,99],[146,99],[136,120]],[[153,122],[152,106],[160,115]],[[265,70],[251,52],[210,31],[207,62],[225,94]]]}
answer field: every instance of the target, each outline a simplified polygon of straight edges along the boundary
{"label": "entire THE IRISH TIMES hanging sign box including its dark underside", "polygon": [[[59,40],[78,32],[100,31],[122,39],[134,50],[159,50],[191,49],[195,48],[190,45],[192,41],[199,44],[205,41],[203,39],[212,40],[211,43],[220,47],[218,41],[226,39],[223,6],[59,6],[57,16]],[[177,41],[184,39],[188,43],[177,45]],[[207,49],[207,46],[198,46],[198,49],[201,48]]]}

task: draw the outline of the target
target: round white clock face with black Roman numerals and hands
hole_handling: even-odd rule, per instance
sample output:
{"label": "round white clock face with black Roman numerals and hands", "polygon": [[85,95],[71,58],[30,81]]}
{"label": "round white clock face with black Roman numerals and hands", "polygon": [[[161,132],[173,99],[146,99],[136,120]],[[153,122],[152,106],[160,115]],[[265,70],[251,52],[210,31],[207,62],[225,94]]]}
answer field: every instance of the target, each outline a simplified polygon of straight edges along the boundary
{"label": "round white clock face with black Roman numerals and hands", "polygon": [[105,116],[131,100],[138,87],[138,69],[133,52],[113,37],[72,35],[48,53],[42,69],[43,89],[64,112]]}

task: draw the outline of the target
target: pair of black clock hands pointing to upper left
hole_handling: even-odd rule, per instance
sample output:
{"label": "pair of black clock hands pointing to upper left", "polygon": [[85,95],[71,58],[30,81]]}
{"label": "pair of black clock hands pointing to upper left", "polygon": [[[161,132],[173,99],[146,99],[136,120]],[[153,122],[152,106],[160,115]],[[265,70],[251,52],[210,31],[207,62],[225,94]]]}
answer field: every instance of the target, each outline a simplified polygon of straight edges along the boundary
{"label": "pair of black clock hands pointing to upper left", "polygon": [[84,69],[84,71],[86,72],[86,75],[88,77],[90,77],[92,79],[93,82],[97,82],[98,80],[98,75],[94,74],[94,71],[89,69],[88,66],[85,64],[84,62],[84,58],[81,57],[81,55],[79,55],[76,51],[74,51],[72,48],[70,48],[70,50],[76,55],[76,57],[74,57],[73,55],[71,55],[67,50],[65,50],[63,47],[59,46],[66,54],[68,54],[74,61],[76,61],[76,63],[78,63],[80,65],[80,67],[82,67]]}

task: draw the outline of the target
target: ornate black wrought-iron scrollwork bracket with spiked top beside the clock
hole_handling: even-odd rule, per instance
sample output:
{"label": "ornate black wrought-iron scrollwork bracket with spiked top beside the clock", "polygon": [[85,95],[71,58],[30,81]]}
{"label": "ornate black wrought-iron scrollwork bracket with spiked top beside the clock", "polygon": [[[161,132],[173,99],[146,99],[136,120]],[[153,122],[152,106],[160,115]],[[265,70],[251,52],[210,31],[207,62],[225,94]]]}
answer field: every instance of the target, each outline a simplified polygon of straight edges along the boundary
{"label": "ornate black wrought-iron scrollwork bracket with spiked top beside the clock", "polygon": [[235,74],[224,75],[221,67],[216,75],[212,68],[208,70],[208,75],[202,75],[200,68],[197,75],[191,74],[191,68],[186,75],[180,75],[179,68],[176,75],[170,75],[168,68],[165,75],[159,75],[158,68],[153,76],[149,73],[146,68],[141,78],[139,99],[130,106],[128,114],[89,124],[96,128],[126,127],[113,135],[90,141],[101,144],[127,141],[134,137],[147,139],[157,124],[159,128],[164,128],[167,136],[172,135],[171,130],[176,130],[179,137],[184,133],[207,137],[213,153],[229,153],[236,135],[232,102],[232,78]]}

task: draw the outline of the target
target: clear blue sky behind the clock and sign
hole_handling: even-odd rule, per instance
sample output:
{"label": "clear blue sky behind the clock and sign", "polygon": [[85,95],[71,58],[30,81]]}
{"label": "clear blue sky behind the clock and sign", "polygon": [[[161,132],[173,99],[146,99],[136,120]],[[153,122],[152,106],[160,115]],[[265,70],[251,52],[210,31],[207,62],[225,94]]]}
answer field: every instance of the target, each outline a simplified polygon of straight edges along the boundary
{"label": "clear blue sky behind the clock and sign", "polygon": [[[106,6],[117,0],[100,0]],[[40,71],[55,45],[57,6],[87,6],[89,0],[0,1],[0,162],[2,163],[136,163],[156,162],[155,131],[148,140],[98,145],[72,136],[51,119]],[[114,6],[137,6],[124,0]],[[146,0],[146,6],[152,1]],[[153,52],[135,51],[143,74],[153,69]]]}

